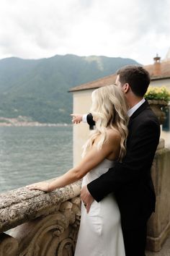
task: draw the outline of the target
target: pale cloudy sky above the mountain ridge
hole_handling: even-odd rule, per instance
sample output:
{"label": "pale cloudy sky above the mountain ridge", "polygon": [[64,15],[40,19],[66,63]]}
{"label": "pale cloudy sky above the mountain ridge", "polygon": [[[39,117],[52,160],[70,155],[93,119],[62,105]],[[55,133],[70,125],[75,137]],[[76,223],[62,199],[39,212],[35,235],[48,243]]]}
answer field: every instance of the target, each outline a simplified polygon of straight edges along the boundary
{"label": "pale cloudy sky above the mountain ridge", "polygon": [[76,54],[146,65],[169,48],[169,0],[0,0],[0,59]]}

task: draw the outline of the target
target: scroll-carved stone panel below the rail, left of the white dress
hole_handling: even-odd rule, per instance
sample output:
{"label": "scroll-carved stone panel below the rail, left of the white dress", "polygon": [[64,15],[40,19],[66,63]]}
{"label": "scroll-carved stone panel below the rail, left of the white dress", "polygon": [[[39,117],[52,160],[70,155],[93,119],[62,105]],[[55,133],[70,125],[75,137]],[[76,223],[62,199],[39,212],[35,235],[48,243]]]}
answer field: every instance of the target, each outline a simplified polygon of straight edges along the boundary
{"label": "scroll-carved stone panel below the rail, left of the white dress", "polygon": [[17,226],[12,236],[19,242],[19,256],[73,256],[80,215],[75,197],[61,203],[56,213]]}

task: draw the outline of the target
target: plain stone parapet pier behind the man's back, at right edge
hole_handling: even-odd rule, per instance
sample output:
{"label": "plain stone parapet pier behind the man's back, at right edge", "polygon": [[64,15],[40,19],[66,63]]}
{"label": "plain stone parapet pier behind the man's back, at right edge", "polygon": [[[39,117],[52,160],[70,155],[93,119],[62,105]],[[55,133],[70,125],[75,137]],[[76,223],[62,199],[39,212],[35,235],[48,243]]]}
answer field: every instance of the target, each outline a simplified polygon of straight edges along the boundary
{"label": "plain stone parapet pier behind the man's back, at right edge", "polygon": [[170,234],[170,149],[164,147],[164,140],[158,145],[151,168],[156,192],[156,212],[148,221],[147,249],[161,250]]}

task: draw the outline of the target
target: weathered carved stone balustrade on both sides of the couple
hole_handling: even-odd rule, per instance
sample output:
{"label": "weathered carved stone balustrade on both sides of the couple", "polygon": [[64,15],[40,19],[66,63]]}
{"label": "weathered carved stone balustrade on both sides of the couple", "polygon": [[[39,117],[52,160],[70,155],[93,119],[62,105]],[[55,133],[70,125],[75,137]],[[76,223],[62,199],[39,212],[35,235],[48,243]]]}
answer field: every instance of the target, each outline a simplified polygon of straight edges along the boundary
{"label": "weathered carved stone balustrade on both sides of the couple", "polygon": [[[161,140],[151,169],[156,212],[148,222],[147,248],[154,252],[170,234],[169,166],[170,149]],[[0,194],[0,256],[73,256],[80,189],[75,182],[49,193],[22,187]]]}

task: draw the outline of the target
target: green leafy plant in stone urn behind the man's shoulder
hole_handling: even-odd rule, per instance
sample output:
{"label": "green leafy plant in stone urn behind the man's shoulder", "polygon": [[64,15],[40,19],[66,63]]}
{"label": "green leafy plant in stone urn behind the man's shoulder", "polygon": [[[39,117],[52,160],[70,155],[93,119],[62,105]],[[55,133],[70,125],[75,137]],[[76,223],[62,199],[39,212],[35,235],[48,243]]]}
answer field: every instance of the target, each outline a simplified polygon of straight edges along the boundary
{"label": "green leafy plant in stone urn behind the man's shoulder", "polygon": [[170,91],[165,86],[150,86],[146,92],[145,98],[148,100],[153,112],[158,116],[160,124],[163,124],[166,119],[166,114],[163,111],[163,108],[168,106],[170,101]]}

